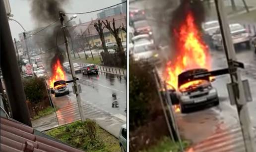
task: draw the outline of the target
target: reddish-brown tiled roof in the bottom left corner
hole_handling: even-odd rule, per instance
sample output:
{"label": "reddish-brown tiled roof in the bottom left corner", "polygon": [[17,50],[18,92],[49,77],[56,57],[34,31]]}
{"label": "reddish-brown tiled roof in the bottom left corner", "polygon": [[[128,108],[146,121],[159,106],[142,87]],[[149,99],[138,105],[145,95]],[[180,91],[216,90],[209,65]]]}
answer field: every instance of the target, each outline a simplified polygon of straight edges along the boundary
{"label": "reddish-brown tiled roof in the bottom left corner", "polygon": [[0,117],[0,152],[82,152],[35,132],[27,125]]}

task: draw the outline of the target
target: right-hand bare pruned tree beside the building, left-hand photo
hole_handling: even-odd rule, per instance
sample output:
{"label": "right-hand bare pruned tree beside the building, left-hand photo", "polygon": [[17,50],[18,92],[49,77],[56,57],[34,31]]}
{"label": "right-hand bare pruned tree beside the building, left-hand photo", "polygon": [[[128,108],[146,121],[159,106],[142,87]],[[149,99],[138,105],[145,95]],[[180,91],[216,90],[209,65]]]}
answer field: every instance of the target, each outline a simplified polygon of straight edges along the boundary
{"label": "right-hand bare pruned tree beside the building, left-hand photo", "polygon": [[124,51],[123,45],[122,45],[122,41],[119,38],[119,31],[121,29],[121,26],[119,28],[116,28],[115,25],[115,19],[113,18],[113,28],[111,27],[110,21],[106,20],[106,23],[104,21],[102,21],[102,23],[105,25],[105,27],[110,31],[110,33],[115,37],[116,42],[117,42],[117,46],[118,46],[118,51]]}

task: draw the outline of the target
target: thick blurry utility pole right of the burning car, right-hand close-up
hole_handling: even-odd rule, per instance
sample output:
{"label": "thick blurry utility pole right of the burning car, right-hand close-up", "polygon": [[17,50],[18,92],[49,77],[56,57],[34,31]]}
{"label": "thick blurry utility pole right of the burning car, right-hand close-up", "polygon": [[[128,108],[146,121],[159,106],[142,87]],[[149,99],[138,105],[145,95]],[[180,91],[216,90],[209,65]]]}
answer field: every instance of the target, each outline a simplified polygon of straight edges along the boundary
{"label": "thick blurry utility pole right of the burning car, right-hand close-up", "polygon": [[238,117],[242,129],[242,134],[244,137],[244,144],[246,152],[256,152],[254,147],[254,136],[253,136],[253,128],[249,116],[247,100],[244,92],[243,82],[241,80],[240,70],[234,66],[234,62],[236,61],[236,53],[233,45],[233,41],[230,35],[230,28],[227,21],[227,15],[224,11],[224,3],[223,0],[214,0],[217,8],[217,15],[220,23],[220,30],[223,36],[223,46],[227,57],[228,68],[231,78],[231,84],[234,87],[233,94],[235,97],[231,97],[230,101],[234,100],[237,106]]}

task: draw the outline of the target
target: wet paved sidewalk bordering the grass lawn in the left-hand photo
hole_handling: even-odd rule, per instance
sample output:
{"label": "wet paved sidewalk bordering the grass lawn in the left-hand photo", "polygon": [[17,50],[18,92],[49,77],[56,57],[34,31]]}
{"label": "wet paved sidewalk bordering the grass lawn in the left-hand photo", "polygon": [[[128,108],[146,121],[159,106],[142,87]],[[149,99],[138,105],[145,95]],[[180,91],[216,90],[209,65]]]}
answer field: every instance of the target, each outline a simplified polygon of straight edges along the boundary
{"label": "wet paved sidewalk bordering the grass lawn in the left-hand photo", "polygon": [[[59,107],[57,111],[58,119],[56,113],[36,119],[32,121],[34,129],[46,131],[58,127],[59,125],[62,126],[80,120],[76,100],[74,100],[73,97],[70,97],[70,99],[65,99],[64,97],[60,97],[58,100],[54,101],[55,105]],[[121,126],[126,123],[126,117],[112,115],[88,102],[82,103],[82,108],[83,115],[86,119],[94,119],[101,128],[118,138]]]}

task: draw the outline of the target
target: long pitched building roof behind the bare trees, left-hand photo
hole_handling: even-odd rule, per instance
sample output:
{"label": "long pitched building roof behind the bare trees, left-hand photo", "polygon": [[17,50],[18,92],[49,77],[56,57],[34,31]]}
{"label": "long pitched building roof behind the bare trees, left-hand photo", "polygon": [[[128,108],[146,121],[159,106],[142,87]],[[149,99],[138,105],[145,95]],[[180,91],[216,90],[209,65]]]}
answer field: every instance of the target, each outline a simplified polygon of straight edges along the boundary
{"label": "long pitched building roof behind the bare trees, left-hand photo", "polygon": [[[118,14],[118,15],[109,16],[109,17],[104,18],[104,19],[96,19],[96,20],[92,20],[92,21],[85,22],[85,23],[82,23],[82,24],[78,24],[74,28],[74,32],[75,32],[74,35],[81,35],[81,30],[83,32],[83,35],[90,35],[90,36],[99,35],[97,30],[94,27],[94,24],[96,22],[98,22],[98,20],[104,21],[104,22],[106,22],[106,20],[108,20],[108,21],[110,21],[111,27],[113,28],[113,25],[112,25],[113,18],[115,19],[116,28],[119,28],[120,26],[122,27],[123,24],[126,27],[126,25],[127,25],[127,15],[122,13],[122,14]],[[102,27],[104,27],[104,26],[105,25],[102,24]],[[106,32],[109,32],[109,30],[107,28],[104,28],[103,32],[106,33]]]}

